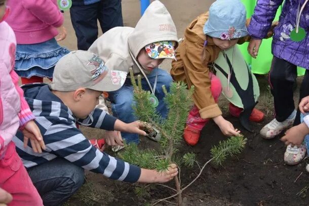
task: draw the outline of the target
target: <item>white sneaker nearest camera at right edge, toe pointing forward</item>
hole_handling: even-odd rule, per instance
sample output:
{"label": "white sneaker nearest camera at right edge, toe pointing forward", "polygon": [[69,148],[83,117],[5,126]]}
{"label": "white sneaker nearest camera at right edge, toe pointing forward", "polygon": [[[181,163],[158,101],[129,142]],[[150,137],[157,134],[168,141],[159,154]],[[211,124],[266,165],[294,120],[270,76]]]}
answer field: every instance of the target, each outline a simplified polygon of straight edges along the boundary
{"label": "white sneaker nearest camera at right edge, toe pointing forward", "polygon": [[287,146],[284,153],[284,162],[287,164],[298,164],[306,155],[306,147],[302,144],[299,147]]}

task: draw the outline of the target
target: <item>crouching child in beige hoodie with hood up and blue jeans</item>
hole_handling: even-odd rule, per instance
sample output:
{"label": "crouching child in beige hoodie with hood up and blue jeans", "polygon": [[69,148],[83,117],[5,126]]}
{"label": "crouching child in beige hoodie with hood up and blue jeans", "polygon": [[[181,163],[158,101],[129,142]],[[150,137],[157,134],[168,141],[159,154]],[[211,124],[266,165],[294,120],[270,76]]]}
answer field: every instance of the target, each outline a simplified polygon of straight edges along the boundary
{"label": "crouching child in beige hoodie with hood up and blue jeans", "polygon": [[[100,36],[88,51],[97,54],[108,68],[129,72],[132,67],[134,75],[141,74],[143,89],[152,93],[153,104],[165,118],[168,110],[163,101],[162,86],[169,91],[172,77],[158,66],[165,58],[175,59],[177,39],[171,15],[160,1],[154,1],[135,28],[112,28]],[[132,109],[133,87],[128,77],[121,89],[108,95],[114,116],[127,123],[136,120]],[[121,135],[127,143],[139,143],[137,134]],[[152,139],[156,140],[155,137]]]}

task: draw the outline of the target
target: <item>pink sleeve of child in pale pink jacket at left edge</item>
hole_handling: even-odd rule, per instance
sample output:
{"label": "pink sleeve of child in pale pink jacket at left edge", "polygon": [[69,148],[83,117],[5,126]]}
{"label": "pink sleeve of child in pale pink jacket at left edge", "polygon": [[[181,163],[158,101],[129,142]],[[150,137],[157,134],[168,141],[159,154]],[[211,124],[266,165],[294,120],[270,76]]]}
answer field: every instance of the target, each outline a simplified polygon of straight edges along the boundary
{"label": "pink sleeve of child in pale pink jacket at left edge", "polygon": [[12,69],[12,71],[10,72],[10,75],[12,77],[13,84],[14,84],[14,86],[15,86],[18,94],[19,94],[19,98],[20,98],[20,112],[18,113],[18,117],[19,117],[20,129],[23,129],[23,127],[26,125],[26,123],[28,121],[32,120],[32,119],[35,119],[35,117],[32,114],[32,112],[29,108],[29,105],[24,98],[23,90],[18,85],[19,76],[14,71],[14,69]]}

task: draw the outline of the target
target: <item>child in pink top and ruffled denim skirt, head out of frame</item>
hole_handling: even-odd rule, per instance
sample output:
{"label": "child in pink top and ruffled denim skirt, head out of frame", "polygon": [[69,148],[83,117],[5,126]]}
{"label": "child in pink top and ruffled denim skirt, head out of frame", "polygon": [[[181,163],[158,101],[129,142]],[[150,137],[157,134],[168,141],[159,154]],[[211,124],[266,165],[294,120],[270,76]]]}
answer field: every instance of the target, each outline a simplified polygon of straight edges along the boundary
{"label": "child in pink top and ruffled denim skirt, head out of frame", "polygon": [[22,84],[52,79],[56,63],[69,53],[57,43],[66,36],[57,0],[8,0],[7,4],[11,13],[6,21],[17,40],[15,71]]}

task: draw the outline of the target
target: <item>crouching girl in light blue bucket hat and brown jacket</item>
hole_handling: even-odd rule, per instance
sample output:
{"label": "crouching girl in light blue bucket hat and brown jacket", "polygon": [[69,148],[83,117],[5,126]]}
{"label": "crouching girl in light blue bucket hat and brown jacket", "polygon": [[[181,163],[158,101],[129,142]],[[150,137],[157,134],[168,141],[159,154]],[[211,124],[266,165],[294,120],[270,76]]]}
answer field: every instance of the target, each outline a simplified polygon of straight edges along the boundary
{"label": "crouching girl in light blue bucket hat and brown jacket", "polygon": [[[195,106],[189,112],[184,131],[184,140],[189,145],[198,143],[201,130],[211,118],[224,135],[240,134],[222,117],[217,105],[222,87],[209,64],[218,58],[220,51],[249,40],[246,22],[246,9],[239,0],[217,0],[209,12],[198,16],[185,30],[184,40],[176,51],[177,61],[172,62],[171,75],[174,80],[195,87]],[[230,103],[229,111],[238,117],[242,108]],[[263,117],[261,111],[253,109],[249,119],[259,122]]]}

